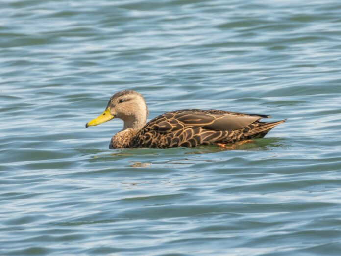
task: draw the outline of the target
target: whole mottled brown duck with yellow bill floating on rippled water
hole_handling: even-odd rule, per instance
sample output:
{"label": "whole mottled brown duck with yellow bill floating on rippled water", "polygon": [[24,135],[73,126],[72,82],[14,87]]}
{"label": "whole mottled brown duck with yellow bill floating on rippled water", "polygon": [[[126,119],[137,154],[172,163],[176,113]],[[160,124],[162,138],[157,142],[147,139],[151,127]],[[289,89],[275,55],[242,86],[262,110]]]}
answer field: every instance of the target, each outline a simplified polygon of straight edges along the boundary
{"label": "whole mottled brown duck with yellow bill floating on rippled water", "polygon": [[115,93],[104,112],[85,127],[121,119],[123,128],[111,138],[110,149],[223,146],[263,138],[287,120],[260,121],[269,117],[216,109],[183,109],[166,112],[147,122],[148,107],[144,97],[136,91],[123,90]]}

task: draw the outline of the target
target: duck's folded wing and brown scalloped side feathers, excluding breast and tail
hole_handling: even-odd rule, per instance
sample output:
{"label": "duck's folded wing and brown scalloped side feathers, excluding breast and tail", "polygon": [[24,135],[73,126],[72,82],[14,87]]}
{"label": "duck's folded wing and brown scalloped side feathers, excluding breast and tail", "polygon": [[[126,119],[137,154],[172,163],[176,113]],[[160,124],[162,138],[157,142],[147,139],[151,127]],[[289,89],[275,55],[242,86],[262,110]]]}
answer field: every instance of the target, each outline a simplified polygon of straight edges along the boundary
{"label": "duck's folded wing and brown scalloped side feathers, excluding breast and tail", "polygon": [[193,147],[235,136],[260,120],[260,115],[219,110],[185,109],[167,112],[149,121],[132,140],[132,147]]}

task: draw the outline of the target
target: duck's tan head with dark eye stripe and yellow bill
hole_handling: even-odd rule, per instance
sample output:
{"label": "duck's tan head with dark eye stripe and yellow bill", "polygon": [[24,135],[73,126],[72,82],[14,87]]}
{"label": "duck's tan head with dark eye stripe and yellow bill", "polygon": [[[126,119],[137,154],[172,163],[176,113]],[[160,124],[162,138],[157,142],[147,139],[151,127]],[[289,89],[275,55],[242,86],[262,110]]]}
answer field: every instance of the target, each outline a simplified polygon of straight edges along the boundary
{"label": "duck's tan head with dark eye stripe and yellow bill", "polygon": [[148,117],[148,108],[143,96],[132,90],[115,93],[104,112],[88,122],[85,127],[97,126],[113,118],[124,121],[124,128],[141,129]]}

